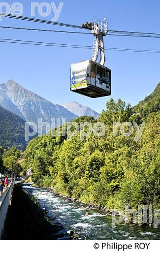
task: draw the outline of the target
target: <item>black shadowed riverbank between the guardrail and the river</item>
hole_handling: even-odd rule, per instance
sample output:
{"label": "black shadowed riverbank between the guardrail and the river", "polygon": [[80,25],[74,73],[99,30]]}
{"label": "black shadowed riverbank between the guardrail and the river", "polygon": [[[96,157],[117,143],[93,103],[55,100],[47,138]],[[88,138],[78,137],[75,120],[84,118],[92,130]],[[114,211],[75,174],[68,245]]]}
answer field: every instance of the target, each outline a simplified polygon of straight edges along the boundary
{"label": "black shadowed riverbank between the guardrail and the river", "polygon": [[33,196],[20,187],[14,189],[3,240],[57,240],[64,237],[63,229],[61,224],[52,224],[45,217]]}

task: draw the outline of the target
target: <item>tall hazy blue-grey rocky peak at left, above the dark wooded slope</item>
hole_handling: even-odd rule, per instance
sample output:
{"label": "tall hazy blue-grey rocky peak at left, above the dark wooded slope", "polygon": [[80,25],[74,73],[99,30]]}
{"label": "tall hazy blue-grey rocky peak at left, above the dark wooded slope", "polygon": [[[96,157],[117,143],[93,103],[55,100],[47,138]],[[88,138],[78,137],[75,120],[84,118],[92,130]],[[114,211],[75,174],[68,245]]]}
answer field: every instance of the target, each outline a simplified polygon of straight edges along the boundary
{"label": "tall hazy blue-grey rocky peak at left, above the dark wooded slope", "polygon": [[63,106],[26,90],[13,80],[0,84],[0,106],[36,124],[38,118],[51,124],[51,118],[66,118],[67,122],[77,117]]}

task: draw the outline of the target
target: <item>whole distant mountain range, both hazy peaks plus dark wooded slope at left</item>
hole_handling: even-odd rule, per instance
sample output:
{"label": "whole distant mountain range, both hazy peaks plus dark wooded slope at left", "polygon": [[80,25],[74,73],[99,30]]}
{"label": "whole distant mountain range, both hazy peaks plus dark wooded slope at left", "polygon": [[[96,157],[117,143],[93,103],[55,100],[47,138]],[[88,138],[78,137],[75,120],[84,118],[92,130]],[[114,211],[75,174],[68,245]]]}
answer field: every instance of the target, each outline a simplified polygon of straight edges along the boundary
{"label": "whole distant mountain range, both hazy peaks plus dark wooded slope at left", "polygon": [[[26,147],[26,121],[38,125],[38,118],[42,118],[42,122],[49,123],[51,127],[51,118],[65,118],[68,122],[84,115],[97,118],[98,113],[77,102],[70,102],[64,106],[54,104],[26,90],[13,80],[0,84],[0,145],[3,147]],[[46,132],[45,127],[42,132]],[[37,135],[36,133],[35,136]]]}

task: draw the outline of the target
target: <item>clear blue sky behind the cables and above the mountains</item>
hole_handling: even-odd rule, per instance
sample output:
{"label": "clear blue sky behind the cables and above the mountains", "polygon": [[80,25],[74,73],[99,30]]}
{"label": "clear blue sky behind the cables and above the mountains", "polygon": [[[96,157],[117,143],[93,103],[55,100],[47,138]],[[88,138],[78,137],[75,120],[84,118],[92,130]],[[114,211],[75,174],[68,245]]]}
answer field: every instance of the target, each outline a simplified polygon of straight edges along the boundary
{"label": "clear blue sky behind the cables and above the mountains", "polygon": [[[31,2],[19,0],[24,6],[23,16],[31,17]],[[48,3],[58,0],[46,0]],[[85,21],[107,18],[109,30],[160,33],[159,0],[61,0],[64,2],[58,22],[82,25]],[[15,2],[6,0],[10,5]],[[98,5],[99,3],[99,5]],[[37,10],[37,9],[36,9]],[[43,18],[35,11],[35,17]],[[3,18],[0,26],[71,30],[47,24]],[[73,31],[77,31],[73,30]],[[17,31],[0,28],[0,38],[45,41],[53,43],[93,45],[93,35],[54,32]],[[160,50],[160,38],[106,36],[105,47]],[[160,53],[106,51],[106,66],[112,70],[112,97],[122,98],[135,105],[152,93],[160,82]],[[23,87],[61,104],[77,101],[97,112],[105,109],[110,97],[92,99],[70,92],[70,64],[91,59],[92,50],[17,45],[0,43],[0,83],[13,79]]]}

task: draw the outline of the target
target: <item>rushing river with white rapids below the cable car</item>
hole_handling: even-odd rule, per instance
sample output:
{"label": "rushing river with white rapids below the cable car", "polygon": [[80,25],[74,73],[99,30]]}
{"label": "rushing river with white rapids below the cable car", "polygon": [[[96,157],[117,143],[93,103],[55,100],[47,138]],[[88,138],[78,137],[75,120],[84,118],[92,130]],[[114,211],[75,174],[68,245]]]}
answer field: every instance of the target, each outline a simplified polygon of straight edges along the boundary
{"label": "rushing river with white rapids below the cable car", "polygon": [[[45,208],[49,217],[55,217],[54,223],[63,225],[65,231],[76,229],[80,239],[87,240],[158,240],[160,228],[137,226],[134,224],[118,224],[111,226],[111,216],[97,209],[85,209],[86,205],[71,202],[66,198],[55,196],[50,190],[33,188],[24,185],[23,188],[35,196],[40,207]],[[92,215],[87,215],[90,212]]]}

